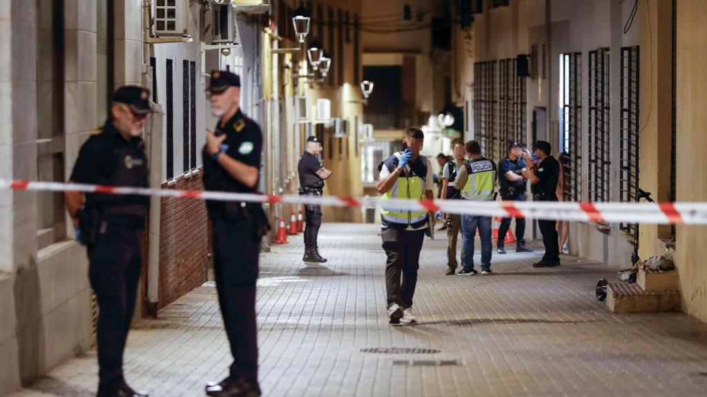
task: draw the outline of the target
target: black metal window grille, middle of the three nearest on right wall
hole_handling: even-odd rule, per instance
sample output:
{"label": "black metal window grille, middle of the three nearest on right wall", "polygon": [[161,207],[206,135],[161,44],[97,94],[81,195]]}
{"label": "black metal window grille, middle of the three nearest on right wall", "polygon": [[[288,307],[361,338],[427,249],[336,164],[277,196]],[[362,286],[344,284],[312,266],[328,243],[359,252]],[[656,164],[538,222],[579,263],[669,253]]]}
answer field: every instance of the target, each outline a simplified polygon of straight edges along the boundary
{"label": "black metal window grille, middle of the three nearest on right wall", "polygon": [[609,49],[589,52],[589,199],[609,201]]}

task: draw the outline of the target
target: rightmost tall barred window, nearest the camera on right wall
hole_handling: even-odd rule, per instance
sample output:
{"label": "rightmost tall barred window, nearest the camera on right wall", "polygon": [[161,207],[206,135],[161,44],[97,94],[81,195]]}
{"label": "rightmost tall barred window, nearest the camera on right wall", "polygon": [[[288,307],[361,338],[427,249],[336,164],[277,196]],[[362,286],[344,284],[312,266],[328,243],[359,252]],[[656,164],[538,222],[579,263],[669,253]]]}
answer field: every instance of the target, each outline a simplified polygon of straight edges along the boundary
{"label": "rightmost tall barred window, nearest the camera on right wall", "polygon": [[[619,194],[621,202],[636,201],[638,191],[638,46],[621,48],[621,143],[619,145]],[[621,223],[633,233],[636,225]]]}

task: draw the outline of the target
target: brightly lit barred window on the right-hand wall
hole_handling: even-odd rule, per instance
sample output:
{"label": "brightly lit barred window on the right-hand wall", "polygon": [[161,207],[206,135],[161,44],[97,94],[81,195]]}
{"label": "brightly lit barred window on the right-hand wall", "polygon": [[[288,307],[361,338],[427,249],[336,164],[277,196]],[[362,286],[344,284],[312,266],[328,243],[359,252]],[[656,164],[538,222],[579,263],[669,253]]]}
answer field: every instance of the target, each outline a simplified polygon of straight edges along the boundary
{"label": "brightly lit barred window on the right-hand wall", "polygon": [[580,201],[582,182],[582,54],[560,54],[559,114],[560,150],[566,156],[563,164],[565,200]]}

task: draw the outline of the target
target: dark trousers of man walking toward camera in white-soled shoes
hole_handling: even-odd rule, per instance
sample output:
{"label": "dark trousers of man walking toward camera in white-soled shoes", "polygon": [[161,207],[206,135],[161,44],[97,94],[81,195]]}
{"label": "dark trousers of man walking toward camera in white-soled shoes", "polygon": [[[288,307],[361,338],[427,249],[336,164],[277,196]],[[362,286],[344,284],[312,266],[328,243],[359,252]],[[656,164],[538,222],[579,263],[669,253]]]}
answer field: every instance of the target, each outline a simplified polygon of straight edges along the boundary
{"label": "dark trousers of man walking toward camera in white-soled shoes", "polygon": [[382,230],[380,235],[387,255],[385,266],[387,306],[397,303],[403,309],[412,307],[425,231],[387,228]]}

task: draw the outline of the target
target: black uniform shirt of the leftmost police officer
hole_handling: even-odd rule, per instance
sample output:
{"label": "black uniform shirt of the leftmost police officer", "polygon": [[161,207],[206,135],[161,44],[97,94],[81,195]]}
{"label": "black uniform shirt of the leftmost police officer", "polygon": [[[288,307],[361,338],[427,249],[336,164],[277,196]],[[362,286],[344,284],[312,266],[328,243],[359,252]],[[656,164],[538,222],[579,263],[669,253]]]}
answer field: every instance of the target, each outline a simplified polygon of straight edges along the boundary
{"label": "black uniform shirt of the leftmost police officer", "polygon": [[[125,139],[107,120],[103,130],[81,146],[70,179],[78,184],[148,187],[142,138]],[[146,196],[86,194],[86,208],[148,206],[149,202]]]}

